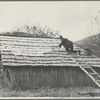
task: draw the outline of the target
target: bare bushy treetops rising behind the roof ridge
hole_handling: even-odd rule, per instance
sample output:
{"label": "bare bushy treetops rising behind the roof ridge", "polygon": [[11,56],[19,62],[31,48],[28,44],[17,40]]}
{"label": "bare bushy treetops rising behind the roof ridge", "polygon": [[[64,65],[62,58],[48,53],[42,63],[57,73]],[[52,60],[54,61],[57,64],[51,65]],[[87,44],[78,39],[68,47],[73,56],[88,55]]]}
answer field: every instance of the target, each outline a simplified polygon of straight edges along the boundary
{"label": "bare bushy treetops rising behind the roof ridge", "polygon": [[8,33],[3,35],[11,36],[28,36],[28,37],[37,37],[37,38],[57,38],[59,36],[58,31],[53,31],[48,27],[42,28],[36,25],[24,25],[23,27],[16,28]]}

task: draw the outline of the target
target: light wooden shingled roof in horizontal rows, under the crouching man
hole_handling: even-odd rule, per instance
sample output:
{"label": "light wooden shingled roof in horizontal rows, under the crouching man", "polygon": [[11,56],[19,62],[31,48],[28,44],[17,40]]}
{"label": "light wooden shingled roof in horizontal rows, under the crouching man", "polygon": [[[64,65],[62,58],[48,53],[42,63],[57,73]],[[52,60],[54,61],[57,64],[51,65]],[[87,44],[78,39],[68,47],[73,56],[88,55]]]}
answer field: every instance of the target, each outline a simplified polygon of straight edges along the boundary
{"label": "light wooden shingled roof in horizontal rows, under the crouching man", "polygon": [[[3,66],[78,66],[59,39],[0,36]],[[74,46],[74,49],[79,47]],[[100,58],[82,56],[87,63],[100,66]],[[92,63],[92,62],[94,63]],[[98,61],[98,62],[97,62]]]}

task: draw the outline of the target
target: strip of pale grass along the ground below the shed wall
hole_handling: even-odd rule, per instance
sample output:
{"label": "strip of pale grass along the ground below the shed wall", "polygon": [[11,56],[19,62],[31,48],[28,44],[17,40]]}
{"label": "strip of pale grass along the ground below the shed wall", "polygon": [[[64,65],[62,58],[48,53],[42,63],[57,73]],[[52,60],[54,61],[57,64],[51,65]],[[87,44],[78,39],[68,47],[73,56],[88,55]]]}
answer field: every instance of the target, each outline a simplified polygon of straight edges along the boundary
{"label": "strip of pale grass along the ground below the shed wall", "polygon": [[100,89],[93,87],[40,88],[32,90],[0,89],[0,97],[100,97]]}

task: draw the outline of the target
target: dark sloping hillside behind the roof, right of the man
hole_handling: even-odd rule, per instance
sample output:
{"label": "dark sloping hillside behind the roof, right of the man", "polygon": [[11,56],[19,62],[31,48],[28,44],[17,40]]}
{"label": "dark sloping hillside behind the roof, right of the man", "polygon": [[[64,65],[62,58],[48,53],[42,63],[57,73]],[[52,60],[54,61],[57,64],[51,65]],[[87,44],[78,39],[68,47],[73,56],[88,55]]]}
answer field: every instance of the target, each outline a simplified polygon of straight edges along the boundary
{"label": "dark sloping hillside behind the roof, right of the man", "polygon": [[86,37],[75,43],[83,49],[91,50],[93,55],[100,57],[100,33]]}

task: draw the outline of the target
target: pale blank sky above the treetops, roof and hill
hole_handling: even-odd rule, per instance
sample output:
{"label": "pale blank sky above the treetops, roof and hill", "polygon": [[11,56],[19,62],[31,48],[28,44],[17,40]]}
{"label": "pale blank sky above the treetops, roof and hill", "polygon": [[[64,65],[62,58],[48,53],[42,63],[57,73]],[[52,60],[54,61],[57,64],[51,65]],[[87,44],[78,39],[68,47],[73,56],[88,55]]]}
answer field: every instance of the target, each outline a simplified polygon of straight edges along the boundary
{"label": "pale blank sky above the treetops, roof and hill", "polygon": [[35,24],[78,41],[86,36],[99,11],[100,1],[2,1],[0,32]]}

